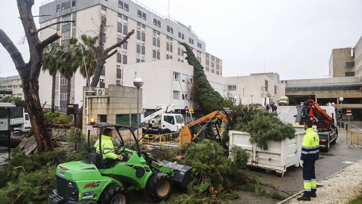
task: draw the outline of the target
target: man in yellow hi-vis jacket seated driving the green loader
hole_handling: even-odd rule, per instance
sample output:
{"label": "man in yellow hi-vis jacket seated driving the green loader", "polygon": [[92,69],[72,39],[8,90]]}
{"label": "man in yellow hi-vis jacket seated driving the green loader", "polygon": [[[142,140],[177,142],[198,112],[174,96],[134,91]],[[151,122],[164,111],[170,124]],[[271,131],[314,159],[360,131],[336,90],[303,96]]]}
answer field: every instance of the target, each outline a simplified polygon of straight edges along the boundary
{"label": "man in yellow hi-vis jacket seated driving the green loader", "polygon": [[[112,143],[112,129],[106,128],[103,131],[102,134],[102,156],[103,156],[103,162],[106,168],[111,167],[115,162],[117,162],[117,159],[119,161],[125,161],[127,162],[129,160],[128,156],[123,155],[117,155],[114,154],[114,146]],[[99,152],[99,140],[97,140],[96,144],[94,144],[94,147],[96,147],[96,152],[100,154]]]}

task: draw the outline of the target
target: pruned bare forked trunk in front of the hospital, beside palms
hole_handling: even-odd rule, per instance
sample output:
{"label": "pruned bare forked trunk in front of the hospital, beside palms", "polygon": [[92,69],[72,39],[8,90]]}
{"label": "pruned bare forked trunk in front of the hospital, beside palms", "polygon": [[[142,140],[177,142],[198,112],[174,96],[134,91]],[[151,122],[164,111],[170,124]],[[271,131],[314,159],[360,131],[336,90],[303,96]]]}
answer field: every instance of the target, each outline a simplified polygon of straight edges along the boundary
{"label": "pruned bare forked trunk in front of the hospital, beside palms", "polygon": [[[104,41],[105,41],[105,37],[106,37],[105,29],[106,29],[106,18],[102,17],[101,26],[99,29],[98,45],[90,45],[92,47],[92,49],[94,49],[94,51],[96,51],[96,61],[97,61],[96,70],[94,72],[92,82],[90,83],[90,86],[92,86],[92,87],[97,87],[99,78],[102,73],[103,66],[106,63],[106,59],[110,58],[115,53],[117,53],[117,49],[115,49],[115,48],[121,46],[123,43],[127,43],[127,40],[135,32],[135,30],[132,29],[131,32],[129,32],[125,37],[123,37],[123,39],[121,41],[110,46],[109,48],[104,49],[103,47],[104,47]],[[115,49],[115,50],[113,50],[113,49]],[[111,53],[109,53],[111,50],[113,50],[113,51]]]}

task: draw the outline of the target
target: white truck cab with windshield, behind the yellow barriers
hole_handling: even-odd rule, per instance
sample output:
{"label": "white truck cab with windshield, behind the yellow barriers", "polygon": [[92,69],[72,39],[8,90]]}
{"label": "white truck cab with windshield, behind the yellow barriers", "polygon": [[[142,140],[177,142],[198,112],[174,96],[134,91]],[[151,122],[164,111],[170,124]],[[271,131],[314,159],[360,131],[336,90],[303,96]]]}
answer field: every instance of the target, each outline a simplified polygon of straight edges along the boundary
{"label": "white truck cab with windshield, behind the yellow barriers", "polygon": [[161,129],[163,130],[163,134],[179,132],[182,126],[185,126],[185,121],[181,114],[162,114]]}

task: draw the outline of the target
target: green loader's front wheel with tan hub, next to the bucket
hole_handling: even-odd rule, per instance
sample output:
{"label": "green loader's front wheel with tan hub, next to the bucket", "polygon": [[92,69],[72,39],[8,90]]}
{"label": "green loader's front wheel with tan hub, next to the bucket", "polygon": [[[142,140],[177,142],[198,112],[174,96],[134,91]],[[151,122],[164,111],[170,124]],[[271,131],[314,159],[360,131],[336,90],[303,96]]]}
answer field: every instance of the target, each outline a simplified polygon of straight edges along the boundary
{"label": "green loader's front wheel with tan hub, next to the bucket", "polygon": [[146,184],[148,197],[159,203],[168,199],[172,192],[172,180],[164,173],[157,172],[152,174]]}

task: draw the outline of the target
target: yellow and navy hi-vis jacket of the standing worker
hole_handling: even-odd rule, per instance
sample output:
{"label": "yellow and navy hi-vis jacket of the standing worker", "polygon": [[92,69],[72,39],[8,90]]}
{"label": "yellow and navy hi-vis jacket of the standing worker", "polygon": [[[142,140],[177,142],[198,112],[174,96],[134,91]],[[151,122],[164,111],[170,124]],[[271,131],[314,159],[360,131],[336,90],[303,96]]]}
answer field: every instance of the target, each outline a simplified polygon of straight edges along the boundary
{"label": "yellow and navy hi-vis jacket of the standing worker", "polygon": [[302,154],[300,159],[302,160],[318,160],[319,159],[319,137],[313,128],[308,128],[306,135],[303,137]]}

